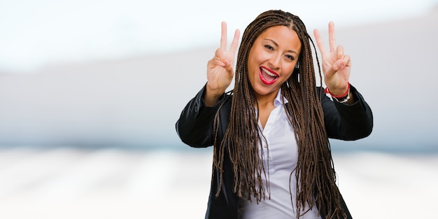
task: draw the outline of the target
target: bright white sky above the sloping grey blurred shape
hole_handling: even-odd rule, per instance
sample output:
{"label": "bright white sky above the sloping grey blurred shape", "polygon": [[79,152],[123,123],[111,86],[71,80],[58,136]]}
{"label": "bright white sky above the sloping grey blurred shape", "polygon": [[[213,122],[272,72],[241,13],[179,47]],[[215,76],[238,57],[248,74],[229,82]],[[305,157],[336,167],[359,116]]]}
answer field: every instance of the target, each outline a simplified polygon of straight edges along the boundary
{"label": "bright white sky above the sloping grey blurred shape", "polygon": [[311,30],[330,20],[337,27],[394,20],[436,5],[437,0],[2,0],[0,72],[200,48],[218,41],[221,21],[243,31],[269,9],[299,15]]}

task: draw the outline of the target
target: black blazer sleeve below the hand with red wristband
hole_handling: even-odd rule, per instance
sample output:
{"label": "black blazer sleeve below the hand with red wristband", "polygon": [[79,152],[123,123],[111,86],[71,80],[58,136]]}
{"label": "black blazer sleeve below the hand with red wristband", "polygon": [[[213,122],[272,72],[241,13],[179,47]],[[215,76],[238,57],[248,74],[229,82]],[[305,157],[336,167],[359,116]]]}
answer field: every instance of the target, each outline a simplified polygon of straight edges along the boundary
{"label": "black blazer sleeve below the hand with red wristband", "polygon": [[332,101],[323,94],[321,104],[327,135],[332,139],[353,141],[369,136],[373,128],[372,110],[362,95],[351,86],[353,104],[341,104]]}

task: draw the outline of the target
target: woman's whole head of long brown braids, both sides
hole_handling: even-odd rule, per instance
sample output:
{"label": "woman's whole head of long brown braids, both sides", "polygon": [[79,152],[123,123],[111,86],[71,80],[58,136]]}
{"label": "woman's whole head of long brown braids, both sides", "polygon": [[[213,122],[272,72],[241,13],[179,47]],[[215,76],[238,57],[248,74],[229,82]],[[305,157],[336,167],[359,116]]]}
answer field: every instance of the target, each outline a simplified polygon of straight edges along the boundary
{"label": "woman's whole head of long brown braids, both sides", "polygon": [[[336,185],[330,143],[325,131],[323,109],[320,103],[322,93],[318,94],[316,91],[312,48],[309,41],[314,50],[315,45],[307,34],[302,20],[281,10],[269,10],[260,14],[243,33],[236,62],[229,124],[220,145],[217,145],[215,140],[215,147],[219,147],[220,152],[220,155],[214,156],[215,168],[220,171],[220,184],[216,195],[219,194],[222,185],[225,150],[227,150],[234,171],[234,192],[239,197],[246,194],[248,195],[246,198],[250,200],[254,197],[256,202],[265,198],[266,190],[270,195],[269,178],[267,188],[264,188],[262,182],[262,177],[267,176],[265,171],[267,167],[264,167],[262,162],[264,155],[259,153],[262,151],[260,147],[264,136],[258,125],[259,106],[248,79],[248,55],[257,36],[267,28],[276,25],[285,25],[295,30],[302,43],[302,51],[298,59],[299,67],[294,70],[281,89],[281,95],[289,101],[288,104],[284,104],[284,107],[295,131],[298,146],[295,169],[297,216],[298,218],[301,216],[307,204],[310,208],[317,206],[319,213],[326,218],[345,218]],[[318,56],[316,59],[319,76],[322,78]],[[218,116],[215,120],[218,121]],[[217,128],[215,132],[218,132]]]}

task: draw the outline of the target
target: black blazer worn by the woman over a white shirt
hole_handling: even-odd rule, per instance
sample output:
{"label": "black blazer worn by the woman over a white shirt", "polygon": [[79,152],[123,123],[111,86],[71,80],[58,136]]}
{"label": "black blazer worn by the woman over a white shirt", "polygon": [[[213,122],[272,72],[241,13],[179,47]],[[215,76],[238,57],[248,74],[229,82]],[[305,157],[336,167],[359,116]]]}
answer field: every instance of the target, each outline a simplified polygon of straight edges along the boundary
{"label": "black blazer worn by the woman over a white shirt", "polygon": [[[218,132],[218,141],[222,141],[225,129],[227,129],[231,109],[232,98],[228,94],[223,94],[215,106],[205,106],[202,99],[205,89],[204,86],[202,90],[188,102],[179,120],[176,122],[176,132],[181,138],[181,141],[194,148],[206,148],[213,145],[213,118],[223,103],[219,112],[220,124]],[[318,93],[319,92],[320,87],[318,87]],[[353,141],[365,138],[372,132],[373,116],[371,108],[369,108],[355,87],[351,86],[351,92],[356,99],[355,104],[352,105],[332,101],[323,94],[321,103],[324,111],[325,128],[327,129],[329,138]],[[215,150],[217,150],[217,148],[215,148]],[[227,153],[227,150],[225,150],[225,153]],[[216,154],[218,155],[220,153]],[[216,197],[216,192],[219,183],[219,173],[213,169],[209,203],[205,218],[238,218],[239,197],[232,192],[234,173],[227,154],[225,154],[224,157],[223,169],[223,183],[218,197]],[[351,218],[344,199],[342,199],[341,202],[348,218]]]}

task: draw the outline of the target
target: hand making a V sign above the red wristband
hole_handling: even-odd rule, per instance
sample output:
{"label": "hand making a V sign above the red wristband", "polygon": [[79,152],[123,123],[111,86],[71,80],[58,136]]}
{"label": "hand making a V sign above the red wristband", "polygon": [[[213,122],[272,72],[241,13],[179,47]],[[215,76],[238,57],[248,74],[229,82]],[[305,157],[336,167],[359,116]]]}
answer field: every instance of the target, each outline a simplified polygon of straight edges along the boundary
{"label": "hand making a V sign above the red wristband", "polygon": [[322,55],[322,66],[324,72],[324,82],[330,93],[334,96],[345,94],[348,90],[348,79],[351,72],[350,56],[344,55],[342,45],[336,45],[334,37],[334,23],[329,23],[329,44],[330,51],[325,50],[323,39],[318,29],[313,31],[318,44],[318,49]]}

